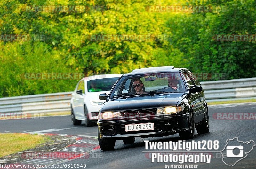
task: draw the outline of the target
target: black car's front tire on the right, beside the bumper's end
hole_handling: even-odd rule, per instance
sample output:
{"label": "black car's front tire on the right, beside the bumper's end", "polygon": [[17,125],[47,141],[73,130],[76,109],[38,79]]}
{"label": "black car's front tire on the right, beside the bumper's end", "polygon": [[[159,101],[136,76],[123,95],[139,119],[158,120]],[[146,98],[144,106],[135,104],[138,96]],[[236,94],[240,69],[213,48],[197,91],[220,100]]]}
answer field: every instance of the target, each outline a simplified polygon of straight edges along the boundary
{"label": "black car's front tire on the right, beside the bumper's end", "polygon": [[188,131],[179,133],[180,138],[183,140],[191,139],[195,136],[195,119],[194,113],[192,110],[189,112],[189,119],[188,119]]}

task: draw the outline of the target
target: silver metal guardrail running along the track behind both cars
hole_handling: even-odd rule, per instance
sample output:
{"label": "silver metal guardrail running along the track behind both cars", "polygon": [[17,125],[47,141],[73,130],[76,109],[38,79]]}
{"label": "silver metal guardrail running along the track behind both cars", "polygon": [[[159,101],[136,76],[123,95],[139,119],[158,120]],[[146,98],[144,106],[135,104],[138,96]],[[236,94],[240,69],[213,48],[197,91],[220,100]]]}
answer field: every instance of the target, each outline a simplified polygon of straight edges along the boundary
{"label": "silver metal guardrail running along the track behind both cars", "polygon": [[[207,102],[256,98],[256,78],[201,82]],[[0,113],[69,112],[72,92],[0,98]]]}

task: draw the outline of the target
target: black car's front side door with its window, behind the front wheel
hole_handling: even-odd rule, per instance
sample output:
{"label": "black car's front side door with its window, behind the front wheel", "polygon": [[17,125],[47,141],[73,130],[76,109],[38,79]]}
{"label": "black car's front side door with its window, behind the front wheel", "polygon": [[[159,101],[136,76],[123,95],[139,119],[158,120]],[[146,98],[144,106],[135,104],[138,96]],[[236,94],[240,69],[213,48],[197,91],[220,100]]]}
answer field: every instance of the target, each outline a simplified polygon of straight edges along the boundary
{"label": "black car's front side door with its window, behind the front wheel", "polygon": [[[182,71],[182,74],[185,76],[185,79],[188,83],[188,88],[189,90],[195,86],[194,81],[192,80],[192,78],[188,75],[188,73],[186,71]],[[201,98],[200,98],[200,94],[199,93],[191,93],[191,106],[194,112],[194,119],[195,119],[195,123],[198,123],[201,121],[201,112],[200,112],[200,102],[201,102]]]}

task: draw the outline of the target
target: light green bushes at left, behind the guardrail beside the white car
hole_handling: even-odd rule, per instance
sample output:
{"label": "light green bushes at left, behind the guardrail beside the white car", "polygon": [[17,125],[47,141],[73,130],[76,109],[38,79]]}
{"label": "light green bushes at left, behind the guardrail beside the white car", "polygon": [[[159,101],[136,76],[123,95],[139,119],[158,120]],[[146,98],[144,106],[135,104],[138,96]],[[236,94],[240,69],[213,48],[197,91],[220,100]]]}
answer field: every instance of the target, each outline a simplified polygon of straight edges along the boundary
{"label": "light green bushes at left, behind the guardrail beside the white car", "polygon": [[1,44],[0,51],[0,95],[18,96],[41,93],[53,93],[56,91],[74,90],[75,80],[65,79],[29,79],[25,73],[49,73],[49,72],[75,72],[67,68],[62,62],[57,51],[48,51],[49,46],[42,42],[29,42],[22,44]]}

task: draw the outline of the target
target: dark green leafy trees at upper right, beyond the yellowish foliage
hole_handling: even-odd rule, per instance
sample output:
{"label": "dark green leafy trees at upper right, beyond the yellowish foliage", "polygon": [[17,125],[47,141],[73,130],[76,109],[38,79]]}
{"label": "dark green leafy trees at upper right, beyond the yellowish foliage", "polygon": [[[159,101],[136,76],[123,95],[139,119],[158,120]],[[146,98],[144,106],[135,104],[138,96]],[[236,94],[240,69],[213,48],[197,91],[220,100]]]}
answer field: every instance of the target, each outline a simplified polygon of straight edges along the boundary
{"label": "dark green leafy trees at upper right, beyond the yellowish foliage", "polygon": [[228,79],[255,77],[255,41],[228,42],[213,38],[215,35],[255,34],[255,1],[200,3],[224,6],[225,10],[182,14],[168,20],[173,34],[171,44],[188,58],[188,68],[193,72],[225,73]]}

